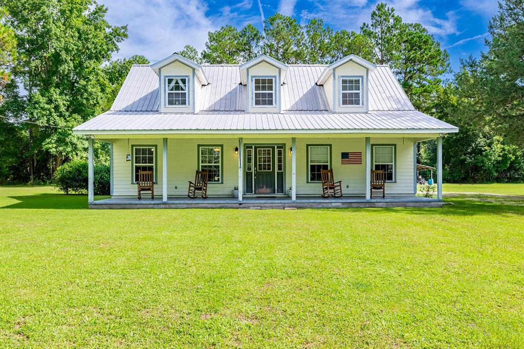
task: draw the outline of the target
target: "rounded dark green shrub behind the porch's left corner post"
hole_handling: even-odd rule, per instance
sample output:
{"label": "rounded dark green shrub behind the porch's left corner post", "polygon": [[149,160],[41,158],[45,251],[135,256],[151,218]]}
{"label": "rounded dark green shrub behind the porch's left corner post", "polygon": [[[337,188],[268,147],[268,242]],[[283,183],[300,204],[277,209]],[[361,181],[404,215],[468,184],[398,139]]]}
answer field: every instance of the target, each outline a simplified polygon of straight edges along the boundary
{"label": "rounded dark green shrub behind the porch's left corner post", "polygon": [[[54,186],[65,194],[85,193],[88,190],[89,168],[87,161],[71,161],[63,164],[54,174]],[[95,165],[93,187],[95,195],[110,194],[110,167]]]}

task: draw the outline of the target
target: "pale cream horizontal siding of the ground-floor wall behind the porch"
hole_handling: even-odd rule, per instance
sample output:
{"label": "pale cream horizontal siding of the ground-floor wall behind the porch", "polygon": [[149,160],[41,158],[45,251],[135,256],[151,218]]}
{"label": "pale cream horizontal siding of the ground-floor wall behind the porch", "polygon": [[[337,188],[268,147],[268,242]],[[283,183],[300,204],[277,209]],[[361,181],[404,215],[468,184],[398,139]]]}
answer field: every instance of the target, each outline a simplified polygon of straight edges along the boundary
{"label": "pale cream horizontal siding of the ground-floor wall behind the porch", "polygon": [[[413,194],[413,143],[402,138],[372,138],[373,144],[396,144],[396,183],[386,184],[386,195]],[[136,196],[136,185],[132,184],[131,161],[125,161],[131,153],[131,146],[147,144],[157,145],[158,175],[155,191],[162,194],[162,139],[127,139],[114,140],[114,196]],[[210,196],[231,196],[231,190],[238,185],[238,155],[234,149],[238,139],[176,139],[168,138],[168,195],[185,196],[188,181],[194,179],[198,168],[198,144],[223,145],[223,183],[210,184]],[[291,186],[291,138],[246,138],[244,144],[285,144],[285,190]],[[332,168],[335,181],[342,181],[345,196],[364,196],[365,183],[365,139],[364,138],[297,138],[297,195],[320,195],[320,183],[307,183],[308,169],[306,144],[331,144]],[[342,165],[342,152],[362,152],[361,165]],[[133,155],[133,154],[132,154]],[[348,188],[346,186],[349,186]]]}

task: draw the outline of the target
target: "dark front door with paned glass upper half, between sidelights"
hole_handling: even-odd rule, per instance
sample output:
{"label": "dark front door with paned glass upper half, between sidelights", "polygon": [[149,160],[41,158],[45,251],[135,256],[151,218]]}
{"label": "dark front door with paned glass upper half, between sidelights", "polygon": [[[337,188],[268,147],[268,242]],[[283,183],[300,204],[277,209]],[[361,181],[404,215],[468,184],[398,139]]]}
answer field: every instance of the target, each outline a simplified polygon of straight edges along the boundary
{"label": "dark front door with paned glass upper half, between sidelights", "polygon": [[275,194],[275,147],[255,147],[255,194]]}

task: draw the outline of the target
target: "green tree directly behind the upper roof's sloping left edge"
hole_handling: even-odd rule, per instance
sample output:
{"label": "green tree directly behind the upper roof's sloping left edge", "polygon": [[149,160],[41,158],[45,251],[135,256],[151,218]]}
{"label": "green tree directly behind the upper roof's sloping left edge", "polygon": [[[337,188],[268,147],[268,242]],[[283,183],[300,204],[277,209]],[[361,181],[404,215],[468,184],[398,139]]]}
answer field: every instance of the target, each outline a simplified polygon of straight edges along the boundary
{"label": "green tree directly behind the upper roof's sloping left edge", "polygon": [[129,58],[111,61],[103,67],[107,81],[111,85],[110,92],[107,93],[107,100],[102,107],[103,111],[111,108],[133,64],[149,64],[149,60],[143,55],[135,54]]}

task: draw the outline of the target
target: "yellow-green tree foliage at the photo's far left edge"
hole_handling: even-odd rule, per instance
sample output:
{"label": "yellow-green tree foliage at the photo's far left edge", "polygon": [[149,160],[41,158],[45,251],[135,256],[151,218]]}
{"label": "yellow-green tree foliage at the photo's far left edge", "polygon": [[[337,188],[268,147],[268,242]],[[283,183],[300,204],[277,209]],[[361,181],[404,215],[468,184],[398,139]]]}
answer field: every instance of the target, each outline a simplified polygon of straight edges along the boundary
{"label": "yellow-green tree foliage at the photo's far left edge", "polygon": [[11,79],[10,67],[16,61],[15,31],[6,25],[6,10],[0,7],[0,105],[3,103],[3,89]]}

